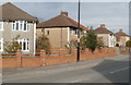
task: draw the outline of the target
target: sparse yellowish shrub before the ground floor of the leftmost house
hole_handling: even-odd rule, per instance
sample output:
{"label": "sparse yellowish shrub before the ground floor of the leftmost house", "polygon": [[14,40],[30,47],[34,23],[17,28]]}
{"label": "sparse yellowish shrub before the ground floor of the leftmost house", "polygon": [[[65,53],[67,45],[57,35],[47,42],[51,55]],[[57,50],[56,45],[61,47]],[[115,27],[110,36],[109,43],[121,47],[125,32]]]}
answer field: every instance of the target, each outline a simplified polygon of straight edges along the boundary
{"label": "sparse yellowish shrub before the ground floor of the leftmost house", "polygon": [[16,52],[19,49],[22,49],[22,45],[17,42],[19,38],[20,38],[20,35],[13,38],[12,41],[5,41],[3,44],[4,51],[8,53],[13,53],[13,52]]}

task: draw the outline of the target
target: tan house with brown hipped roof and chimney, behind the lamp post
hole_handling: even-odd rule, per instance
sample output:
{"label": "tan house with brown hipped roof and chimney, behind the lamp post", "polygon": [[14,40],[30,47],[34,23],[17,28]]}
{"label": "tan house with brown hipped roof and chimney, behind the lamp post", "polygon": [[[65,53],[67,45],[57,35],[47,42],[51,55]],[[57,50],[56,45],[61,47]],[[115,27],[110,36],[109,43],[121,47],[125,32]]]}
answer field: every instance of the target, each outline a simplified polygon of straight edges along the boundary
{"label": "tan house with brown hipped roof and chimney, behind the lamp post", "polygon": [[[71,40],[78,38],[78,22],[68,16],[68,12],[62,12],[48,21],[37,24],[37,36],[45,34],[51,47],[63,48]],[[80,28],[87,32],[88,28],[80,25]]]}

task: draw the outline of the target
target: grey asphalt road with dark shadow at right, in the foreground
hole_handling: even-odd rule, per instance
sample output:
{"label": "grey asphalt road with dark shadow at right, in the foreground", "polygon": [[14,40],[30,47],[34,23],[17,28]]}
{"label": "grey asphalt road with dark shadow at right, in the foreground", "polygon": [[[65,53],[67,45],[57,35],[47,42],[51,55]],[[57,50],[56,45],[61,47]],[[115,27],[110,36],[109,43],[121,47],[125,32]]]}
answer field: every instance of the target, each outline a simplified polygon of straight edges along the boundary
{"label": "grey asphalt road with dark shadow at right, in the foreground", "polygon": [[129,54],[123,54],[104,59],[92,68],[48,74],[3,76],[2,81],[3,83],[129,83],[130,68]]}

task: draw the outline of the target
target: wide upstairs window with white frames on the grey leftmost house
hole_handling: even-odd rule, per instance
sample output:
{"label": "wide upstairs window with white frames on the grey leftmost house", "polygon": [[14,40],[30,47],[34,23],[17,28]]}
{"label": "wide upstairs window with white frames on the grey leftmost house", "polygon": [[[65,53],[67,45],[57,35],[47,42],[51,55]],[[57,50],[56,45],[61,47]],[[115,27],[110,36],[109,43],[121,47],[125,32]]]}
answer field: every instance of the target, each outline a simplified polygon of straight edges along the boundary
{"label": "wide upstairs window with white frames on the grey leftmost house", "polygon": [[13,22],[13,31],[28,31],[28,23],[26,21]]}

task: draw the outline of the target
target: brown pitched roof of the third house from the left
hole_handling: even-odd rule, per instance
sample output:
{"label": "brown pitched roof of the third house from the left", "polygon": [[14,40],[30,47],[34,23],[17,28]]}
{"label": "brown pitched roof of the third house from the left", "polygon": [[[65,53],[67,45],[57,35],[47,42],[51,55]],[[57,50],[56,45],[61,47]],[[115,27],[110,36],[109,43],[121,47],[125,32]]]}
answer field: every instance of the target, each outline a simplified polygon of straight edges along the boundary
{"label": "brown pitched roof of the third house from the left", "polygon": [[107,29],[105,25],[100,25],[100,27],[97,27],[94,32],[96,34],[114,34],[111,31]]}

